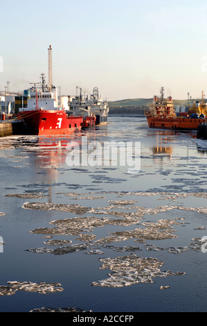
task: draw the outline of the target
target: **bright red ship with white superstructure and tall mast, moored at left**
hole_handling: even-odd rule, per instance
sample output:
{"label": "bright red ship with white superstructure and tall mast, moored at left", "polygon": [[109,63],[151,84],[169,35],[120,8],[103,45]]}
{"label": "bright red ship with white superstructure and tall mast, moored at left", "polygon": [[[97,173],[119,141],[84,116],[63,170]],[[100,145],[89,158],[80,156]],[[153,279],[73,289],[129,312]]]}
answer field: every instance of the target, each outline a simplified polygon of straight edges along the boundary
{"label": "bright red ship with white superstructure and tall mast, moored at left", "polygon": [[48,49],[48,85],[45,85],[42,74],[42,85],[37,89],[36,84],[30,89],[27,108],[19,109],[19,119],[24,121],[30,135],[68,135],[79,132],[83,118],[69,116],[58,106],[57,88],[53,86],[51,76],[51,46]]}

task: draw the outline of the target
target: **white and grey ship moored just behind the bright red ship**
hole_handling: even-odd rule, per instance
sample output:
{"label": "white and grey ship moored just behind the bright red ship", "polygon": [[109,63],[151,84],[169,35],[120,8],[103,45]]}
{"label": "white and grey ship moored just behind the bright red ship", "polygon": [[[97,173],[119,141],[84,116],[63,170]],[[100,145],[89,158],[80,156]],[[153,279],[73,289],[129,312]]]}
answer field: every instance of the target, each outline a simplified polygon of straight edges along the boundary
{"label": "white and grey ship moored just behind the bright red ship", "polygon": [[80,88],[80,96],[69,96],[69,108],[73,116],[83,117],[83,128],[93,126],[102,126],[107,124],[109,113],[108,101],[103,100],[98,95],[98,87],[93,88],[93,94],[82,96],[82,88]]}

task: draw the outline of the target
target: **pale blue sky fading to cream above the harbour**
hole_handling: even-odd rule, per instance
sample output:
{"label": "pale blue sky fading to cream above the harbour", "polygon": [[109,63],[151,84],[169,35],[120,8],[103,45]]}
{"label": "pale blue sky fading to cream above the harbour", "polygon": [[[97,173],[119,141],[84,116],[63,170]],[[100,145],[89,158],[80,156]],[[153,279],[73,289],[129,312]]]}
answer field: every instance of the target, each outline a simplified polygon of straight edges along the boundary
{"label": "pale blue sky fading to cream above the harbour", "polygon": [[[53,48],[53,84],[62,94],[98,87],[109,101],[207,98],[207,1],[1,1],[0,89],[30,87]],[[205,58],[206,56],[206,58]],[[202,61],[204,60],[204,61]]]}

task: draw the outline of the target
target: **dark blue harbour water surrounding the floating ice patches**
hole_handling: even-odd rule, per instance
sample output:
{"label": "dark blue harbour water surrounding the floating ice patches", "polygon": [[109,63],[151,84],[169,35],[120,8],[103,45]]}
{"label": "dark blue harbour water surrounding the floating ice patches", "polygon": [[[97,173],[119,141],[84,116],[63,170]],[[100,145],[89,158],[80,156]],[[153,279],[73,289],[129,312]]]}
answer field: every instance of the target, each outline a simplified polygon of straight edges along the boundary
{"label": "dark blue harbour water surrounding the floating ice patches", "polygon": [[[192,248],[179,253],[168,250],[189,249],[192,239],[207,236],[204,210],[207,151],[197,148],[195,135],[195,132],[152,130],[148,128],[145,117],[109,117],[107,126],[69,137],[0,139],[0,212],[5,213],[0,216],[0,236],[5,242],[3,252],[0,252],[0,286],[8,286],[8,282],[13,281],[57,282],[63,289],[54,293],[20,290],[12,295],[0,295],[0,311],[28,312],[41,307],[80,307],[94,312],[207,311],[207,252]],[[101,143],[140,141],[140,171],[127,173],[127,166],[67,166],[66,145],[69,141],[80,143],[82,136],[87,136],[90,142]],[[25,203],[29,203],[27,207]],[[35,204],[30,206],[30,203]],[[37,203],[47,205],[44,209],[37,209]],[[58,209],[61,205],[72,204],[88,207],[89,212],[80,214],[78,209],[74,212]],[[171,206],[175,206],[174,209],[169,209]],[[204,209],[199,211],[200,207]],[[32,248],[57,248],[44,243],[48,241],[43,238],[46,234],[30,232],[37,228],[56,227],[50,224],[51,221],[84,216],[118,218],[114,211],[126,212],[129,216],[137,209],[145,214],[136,224],[112,223],[84,229],[80,233],[94,234],[94,240],[98,240],[114,232],[145,228],[142,224],[145,222],[168,219],[183,222],[173,225],[173,234],[177,237],[145,239],[139,243],[134,241],[136,238],[129,237],[106,245],[99,243],[95,246],[93,243],[92,248],[100,253],[91,255],[87,254],[90,246],[64,255],[30,251]],[[147,214],[145,209],[152,210]],[[100,214],[97,214],[98,210]],[[78,238],[80,234],[58,234],[51,239],[69,240],[72,244],[86,242]],[[165,250],[147,250],[146,245]],[[126,246],[138,247],[139,250],[117,251]],[[100,269],[100,258],[130,254],[157,258],[163,261],[161,271],[185,274],[152,277],[154,282],[128,286],[91,285],[106,280],[111,273],[109,268]],[[161,290],[160,286],[170,287]]]}

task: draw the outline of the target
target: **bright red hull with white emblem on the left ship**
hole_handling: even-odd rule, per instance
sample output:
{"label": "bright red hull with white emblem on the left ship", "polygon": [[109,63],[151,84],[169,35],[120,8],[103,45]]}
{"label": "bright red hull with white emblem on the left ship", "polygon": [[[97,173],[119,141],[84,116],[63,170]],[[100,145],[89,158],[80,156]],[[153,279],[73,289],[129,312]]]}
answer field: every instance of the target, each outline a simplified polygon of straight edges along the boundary
{"label": "bright red hull with white emblem on the left ship", "polygon": [[82,117],[68,117],[57,110],[31,110],[19,113],[30,135],[68,135],[79,132]]}

